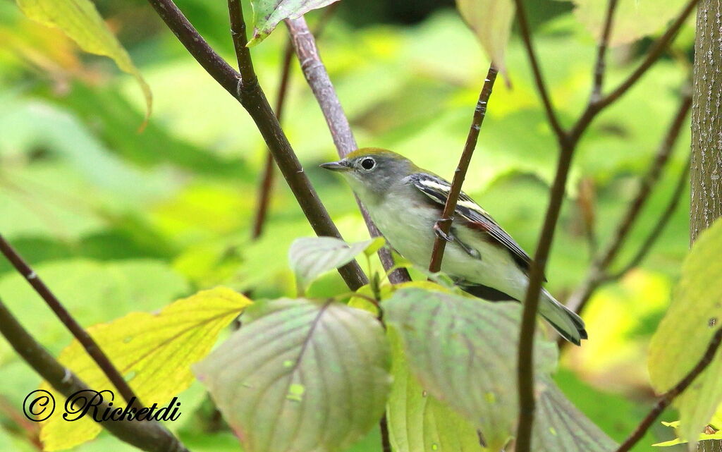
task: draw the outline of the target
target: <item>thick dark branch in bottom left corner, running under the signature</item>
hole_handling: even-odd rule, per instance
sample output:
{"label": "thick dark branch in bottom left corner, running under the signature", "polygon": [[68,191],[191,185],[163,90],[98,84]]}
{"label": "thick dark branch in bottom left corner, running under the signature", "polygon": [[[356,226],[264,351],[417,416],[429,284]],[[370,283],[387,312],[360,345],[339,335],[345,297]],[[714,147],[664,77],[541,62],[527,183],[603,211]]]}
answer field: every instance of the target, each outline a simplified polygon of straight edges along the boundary
{"label": "thick dark branch in bottom left corner, running under the signature", "polygon": [[[31,368],[66,397],[79,391],[90,391],[69,369],[64,368],[42,345],[25,330],[0,300],[0,334]],[[100,404],[100,412],[112,409]],[[158,422],[128,422],[108,420],[100,425],[118,439],[148,452],[188,452],[178,438]]]}

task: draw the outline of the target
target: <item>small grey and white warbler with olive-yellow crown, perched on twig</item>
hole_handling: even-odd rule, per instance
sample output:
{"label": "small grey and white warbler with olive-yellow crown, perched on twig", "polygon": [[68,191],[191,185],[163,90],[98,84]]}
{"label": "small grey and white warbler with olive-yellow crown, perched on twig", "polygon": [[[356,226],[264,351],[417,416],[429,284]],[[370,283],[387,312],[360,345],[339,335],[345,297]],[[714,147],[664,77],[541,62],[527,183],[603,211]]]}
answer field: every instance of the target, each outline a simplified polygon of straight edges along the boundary
{"label": "small grey and white warbler with olive-yellow crown, perched on twig", "polygon": [[[344,175],[371,220],[401,256],[429,265],[435,235],[448,240],[441,270],[466,292],[487,300],[523,300],[531,258],[495,220],[463,192],[451,232],[436,222],[451,183],[396,152],[365,148],[321,168]],[[587,339],[579,316],[541,290],[539,313],[565,339]]]}

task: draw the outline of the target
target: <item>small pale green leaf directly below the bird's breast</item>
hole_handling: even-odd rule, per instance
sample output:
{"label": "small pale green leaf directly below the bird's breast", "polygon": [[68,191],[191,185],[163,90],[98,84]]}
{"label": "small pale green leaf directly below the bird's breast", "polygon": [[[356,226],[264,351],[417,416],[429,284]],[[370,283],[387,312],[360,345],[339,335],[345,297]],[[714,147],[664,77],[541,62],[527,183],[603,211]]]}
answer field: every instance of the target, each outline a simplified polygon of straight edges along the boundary
{"label": "small pale green leaf directly below the bird's breast", "polygon": [[333,237],[297,238],[288,250],[288,260],[298,286],[303,289],[326,271],[348,264],[375,243],[373,239],[349,244]]}

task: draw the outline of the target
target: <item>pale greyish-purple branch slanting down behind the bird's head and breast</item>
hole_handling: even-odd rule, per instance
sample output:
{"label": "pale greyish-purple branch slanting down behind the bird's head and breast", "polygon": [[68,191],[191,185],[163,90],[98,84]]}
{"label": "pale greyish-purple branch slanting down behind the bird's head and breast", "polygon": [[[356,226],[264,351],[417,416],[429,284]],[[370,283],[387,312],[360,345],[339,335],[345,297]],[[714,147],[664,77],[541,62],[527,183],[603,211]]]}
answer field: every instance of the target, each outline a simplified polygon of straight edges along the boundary
{"label": "pale greyish-purple branch slanting down behind the bird's head and breast", "polygon": [[[336,150],[339,153],[339,157],[345,157],[349,152],[353,152],[358,149],[356,139],[351,131],[349,120],[344,113],[344,109],[341,106],[341,101],[336,95],[334,84],[331,83],[331,77],[329,77],[326,66],[321,61],[321,56],[318,54],[318,46],[316,45],[316,38],[313,37],[313,33],[308,29],[308,25],[303,17],[298,19],[286,19],[286,26],[290,32],[293,47],[296,51],[296,56],[305,76],[308,86],[313,91],[313,95],[316,97],[318,105],[321,107],[323,117],[326,118],[326,124],[329,126],[331,131],[331,137],[334,139]],[[366,222],[366,227],[372,237],[378,237],[381,232],[373,224],[365,207],[356,200],[359,204],[359,209]],[[386,248],[381,248],[378,251],[378,256],[383,264],[383,268],[393,268],[393,258],[391,253]],[[400,282],[410,281],[409,272],[406,269],[395,269],[388,275],[388,280],[394,284]]]}

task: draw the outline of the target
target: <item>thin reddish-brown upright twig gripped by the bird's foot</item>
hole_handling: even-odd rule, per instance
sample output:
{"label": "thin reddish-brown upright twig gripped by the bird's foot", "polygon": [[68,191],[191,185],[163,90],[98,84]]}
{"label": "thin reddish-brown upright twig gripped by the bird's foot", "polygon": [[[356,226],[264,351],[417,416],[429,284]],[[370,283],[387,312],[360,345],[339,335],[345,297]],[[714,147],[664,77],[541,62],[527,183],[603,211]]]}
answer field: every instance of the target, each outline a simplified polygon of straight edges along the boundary
{"label": "thin reddish-brown upright twig gripped by the bird's foot", "polygon": [[444,257],[444,249],[446,248],[446,241],[443,237],[448,237],[451,233],[451,223],[453,222],[453,213],[456,211],[456,203],[458,196],[461,194],[461,186],[464,184],[464,178],[466,178],[466,171],[469,170],[469,163],[471,163],[471,157],[474,155],[474,149],[477,147],[479,140],[479,132],[482,129],[482,123],[487,113],[487,103],[492,95],[492,89],[494,88],[494,82],[496,80],[499,69],[494,66],[494,63],[489,66],[487,72],[487,78],[484,80],[484,86],[482,91],[479,92],[479,100],[477,100],[477,108],[474,109],[474,116],[471,119],[471,128],[469,129],[469,135],[466,136],[466,144],[464,144],[464,151],[461,152],[461,158],[458,160],[456,171],[453,174],[453,181],[451,182],[451,190],[449,191],[448,198],[446,198],[446,204],[444,204],[443,213],[441,218],[435,223],[434,230],[438,233],[434,240],[434,248],[431,251],[431,260],[429,262],[429,271],[436,273],[441,270],[441,261]]}

